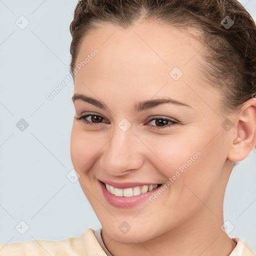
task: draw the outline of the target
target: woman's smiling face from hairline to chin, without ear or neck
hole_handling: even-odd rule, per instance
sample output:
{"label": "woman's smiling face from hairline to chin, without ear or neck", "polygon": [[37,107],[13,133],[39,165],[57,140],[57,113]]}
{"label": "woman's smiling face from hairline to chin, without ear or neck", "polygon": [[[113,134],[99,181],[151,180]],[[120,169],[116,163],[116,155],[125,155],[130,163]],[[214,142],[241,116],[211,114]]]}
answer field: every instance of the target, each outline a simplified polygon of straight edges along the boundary
{"label": "woman's smiling face from hairline to chin, without ear or neck", "polygon": [[202,47],[150,22],[102,26],[81,43],[71,158],[104,232],[116,241],[142,242],[185,223],[198,226],[198,218],[221,219],[233,132],[225,128],[219,91],[198,71]]}

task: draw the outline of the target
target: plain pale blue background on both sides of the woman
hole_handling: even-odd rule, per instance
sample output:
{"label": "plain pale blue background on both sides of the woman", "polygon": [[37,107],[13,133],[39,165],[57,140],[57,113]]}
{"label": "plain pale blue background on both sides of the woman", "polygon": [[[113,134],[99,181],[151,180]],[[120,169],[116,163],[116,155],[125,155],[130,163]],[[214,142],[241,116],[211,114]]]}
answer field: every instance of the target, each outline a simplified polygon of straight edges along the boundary
{"label": "plain pale blue background on both sides of the woman", "polygon": [[[256,1],[242,0],[256,20]],[[69,24],[77,0],[0,0],[0,244],[79,236],[97,220],[80,185],[72,183],[69,154],[73,119]],[[20,29],[15,21],[29,20]],[[24,24],[24,23],[23,23]],[[29,126],[20,131],[24,118]],[[256,151],[234,168],[225,195],[229,236],[256,249]],[[15,226],[29,225],[23,235]],[[229,224],[230,225],[230,224]]]}

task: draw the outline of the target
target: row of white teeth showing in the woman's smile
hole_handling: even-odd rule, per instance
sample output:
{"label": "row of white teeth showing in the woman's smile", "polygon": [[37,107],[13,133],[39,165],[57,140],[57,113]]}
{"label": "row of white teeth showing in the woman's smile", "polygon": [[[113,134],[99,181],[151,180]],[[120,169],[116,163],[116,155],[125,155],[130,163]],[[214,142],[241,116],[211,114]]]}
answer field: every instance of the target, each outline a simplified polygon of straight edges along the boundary
{"label": "row of white teeth showing in the woman's smile", "polygon": [[157,184],[151,184],[151,185],[143,185],[143,186],[135,186],[135,187],[129,187],[125,189],[116,188],[109,184],[105,184],[107,191],[109,191],[111,194],[114,194],[116,196],[124,196],[124,197],[130,197],[133,195],[139,195],[146,193],[147,191],[151,191],[155,189],[158,185]]}

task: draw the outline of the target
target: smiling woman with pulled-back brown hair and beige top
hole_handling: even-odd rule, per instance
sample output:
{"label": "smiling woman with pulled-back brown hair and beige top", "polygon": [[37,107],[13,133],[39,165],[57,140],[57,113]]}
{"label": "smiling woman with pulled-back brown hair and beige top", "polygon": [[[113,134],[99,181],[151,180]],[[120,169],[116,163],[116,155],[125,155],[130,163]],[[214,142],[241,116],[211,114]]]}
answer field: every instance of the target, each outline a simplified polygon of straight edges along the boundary
{"label": "smiling woman with pulled-back brown hair and beige top", "polygon": [[256,27],[236,0],[81,0],[71,158],[102,229],[0,255],[256,255],[223,223],[256,144]]}

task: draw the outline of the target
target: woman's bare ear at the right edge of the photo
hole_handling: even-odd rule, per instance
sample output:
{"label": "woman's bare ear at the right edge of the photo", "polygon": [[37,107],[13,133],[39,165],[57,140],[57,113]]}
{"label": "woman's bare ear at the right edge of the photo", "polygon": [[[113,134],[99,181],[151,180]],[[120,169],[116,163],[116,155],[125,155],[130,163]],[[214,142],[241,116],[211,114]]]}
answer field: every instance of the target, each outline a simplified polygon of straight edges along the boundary
{"label": "woman's bare ear at the right edge of the photo", "polygon": [[256,98],[247,100],[234,116],[234,136],[227,158],[233,162],[245,159],[256,145]]}

